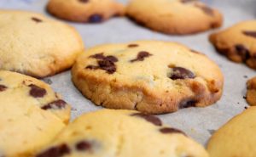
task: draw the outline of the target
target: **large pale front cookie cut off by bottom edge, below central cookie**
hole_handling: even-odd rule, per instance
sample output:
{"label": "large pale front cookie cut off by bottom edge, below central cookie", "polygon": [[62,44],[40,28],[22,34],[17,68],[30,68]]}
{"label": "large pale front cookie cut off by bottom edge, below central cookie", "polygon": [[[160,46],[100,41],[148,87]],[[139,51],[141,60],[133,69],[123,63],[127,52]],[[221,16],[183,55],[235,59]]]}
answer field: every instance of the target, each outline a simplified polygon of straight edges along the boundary
{"label": "large pale front cookie cut off by bottom edge, below central cookie", "polygon": [[102,109],[81,115],[36,157],[208,157],[183,132],[154,115]]}

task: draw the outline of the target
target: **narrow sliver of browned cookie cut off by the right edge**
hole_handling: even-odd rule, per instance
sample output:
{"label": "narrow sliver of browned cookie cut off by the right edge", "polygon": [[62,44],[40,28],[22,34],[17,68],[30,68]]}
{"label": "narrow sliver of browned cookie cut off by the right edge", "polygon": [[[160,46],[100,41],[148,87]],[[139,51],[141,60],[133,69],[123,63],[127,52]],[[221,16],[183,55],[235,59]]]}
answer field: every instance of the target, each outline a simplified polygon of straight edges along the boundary
{"label": "narrow sliver of browned cookie cut off by the right edge", "polygon": [[256,106],[256,77],[247,81],[247,103]]}

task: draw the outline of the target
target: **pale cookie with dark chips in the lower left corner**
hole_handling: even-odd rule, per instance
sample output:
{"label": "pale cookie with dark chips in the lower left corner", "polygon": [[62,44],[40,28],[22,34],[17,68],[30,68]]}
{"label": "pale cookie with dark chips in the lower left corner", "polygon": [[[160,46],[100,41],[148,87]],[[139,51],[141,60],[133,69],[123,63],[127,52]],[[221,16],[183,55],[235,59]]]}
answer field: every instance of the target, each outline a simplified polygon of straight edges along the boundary
{"label": "pale cookie with dark chips in the lower left corner", "polygon": [[0,156],[28,157],[67,125],[70,106],[46,83],[0,70]]}

